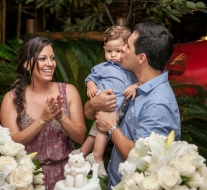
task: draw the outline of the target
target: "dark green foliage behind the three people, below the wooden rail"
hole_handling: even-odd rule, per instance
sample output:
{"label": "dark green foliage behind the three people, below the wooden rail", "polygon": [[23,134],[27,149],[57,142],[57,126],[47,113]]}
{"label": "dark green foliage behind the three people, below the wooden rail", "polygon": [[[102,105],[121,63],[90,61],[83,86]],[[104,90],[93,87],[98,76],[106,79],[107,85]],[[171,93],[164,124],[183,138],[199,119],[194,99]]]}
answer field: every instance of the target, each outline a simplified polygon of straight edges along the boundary
{"label": "dark green foliage behind the three people, below the wooden rail", "polygon": [[[18,50],[22,40],[12,39],[0,45],[0,97],[15,81]],[[79,91],[83,105],[88,100],[84,80],[90,69],[105,60],[102,42],[88,40],[54,41],[57,68],[54,80],[73,84]],[[170,81],[181,114],[181,140],[198,146],[199,153],[207,159],[207,88]],[[194,93],[186,94],[186,88]],[[182,93],[180,93],[182,92]],[[182,95],[180,95],[182,94]],[[86,120],[90,128],[93,121]]]}

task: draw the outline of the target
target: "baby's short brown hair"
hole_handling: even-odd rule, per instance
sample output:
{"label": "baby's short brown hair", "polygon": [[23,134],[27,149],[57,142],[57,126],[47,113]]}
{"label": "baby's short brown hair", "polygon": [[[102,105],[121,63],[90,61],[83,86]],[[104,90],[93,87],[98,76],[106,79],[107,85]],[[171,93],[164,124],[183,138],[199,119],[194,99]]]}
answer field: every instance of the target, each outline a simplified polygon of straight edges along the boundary
{"label": "baby's short brown hair", "polygon": [[104,32],[104,44],[110,40],[122,38],[124,43],[127,43],[131,31],[123,26],[111,26]]}

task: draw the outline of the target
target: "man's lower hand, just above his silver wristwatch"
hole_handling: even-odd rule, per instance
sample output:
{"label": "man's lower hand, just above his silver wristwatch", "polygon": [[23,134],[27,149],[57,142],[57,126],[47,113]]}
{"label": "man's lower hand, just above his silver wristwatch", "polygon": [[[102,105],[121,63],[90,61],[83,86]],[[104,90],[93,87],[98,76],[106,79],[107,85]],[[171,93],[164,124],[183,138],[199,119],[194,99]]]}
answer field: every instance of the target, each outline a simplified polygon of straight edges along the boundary
{"label": "man's lower hand, just above his silver wristwatch", "polygon": [[114,112],[97,111],[95,117],[96,117],[96,127],[101,132],[105,132],[112,126],[117,125],[117,111]]}

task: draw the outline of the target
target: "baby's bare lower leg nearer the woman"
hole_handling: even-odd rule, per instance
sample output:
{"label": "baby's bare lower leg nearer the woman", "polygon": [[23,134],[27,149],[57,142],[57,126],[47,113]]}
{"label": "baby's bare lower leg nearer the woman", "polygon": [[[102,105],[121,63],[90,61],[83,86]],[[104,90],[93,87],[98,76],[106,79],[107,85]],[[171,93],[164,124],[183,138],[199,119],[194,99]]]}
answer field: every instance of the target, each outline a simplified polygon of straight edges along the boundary
{"label": "baby's bare lower leg nearer the woman", "polygon": [[83,153],[83,156],[86,157],[89,153],[93,151],[95,143],[95,137],[94,136],[88,136],[88,138],[85,140],[83,145],[80,148],[80,151]]}

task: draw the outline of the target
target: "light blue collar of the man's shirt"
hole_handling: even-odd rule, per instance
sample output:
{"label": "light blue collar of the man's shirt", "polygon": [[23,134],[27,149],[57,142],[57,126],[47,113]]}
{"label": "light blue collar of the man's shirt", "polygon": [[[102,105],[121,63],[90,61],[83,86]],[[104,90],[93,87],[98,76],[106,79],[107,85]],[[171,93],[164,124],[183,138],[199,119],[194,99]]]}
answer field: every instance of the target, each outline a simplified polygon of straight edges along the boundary
{"label": "light blue collar of the man's shirt", "polygon": [[168,81],[168,71],[164,71],[161,75],[156,76],[155,78],[149,80],[148,82],[142,84],[138,88],[143,92],[147,93],[156,86]]}

